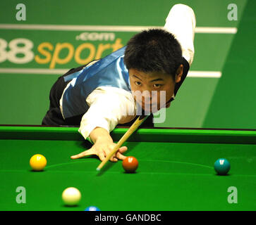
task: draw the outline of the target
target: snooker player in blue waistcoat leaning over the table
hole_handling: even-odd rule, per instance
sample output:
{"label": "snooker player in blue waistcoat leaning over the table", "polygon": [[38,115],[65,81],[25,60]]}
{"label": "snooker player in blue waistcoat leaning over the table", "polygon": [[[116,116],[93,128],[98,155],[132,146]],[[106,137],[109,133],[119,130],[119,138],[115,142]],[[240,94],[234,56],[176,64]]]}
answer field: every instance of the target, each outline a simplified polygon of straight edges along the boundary
{"label": "snooker player in blue waistcoat leaning over the table", "polygon": [[[145,30],[126,46],[100,60],[69,70],[52,86],[43,125],[80,126],[78,131],[92,148],[71,158],[97,155],[104,160],[114,148],[110,132],[118,124],[132,124],[138,105],[168,108],[183,83],[194,57],[195,14],[183,4],[171,8],[164,29]],[[139,101],[135,91],[157,93]],[[160,105],[159,92],[165,91]],[[152,127],[152,113],[144,126]],[[111,161],[123,160],[126,146]]]}

